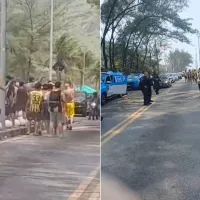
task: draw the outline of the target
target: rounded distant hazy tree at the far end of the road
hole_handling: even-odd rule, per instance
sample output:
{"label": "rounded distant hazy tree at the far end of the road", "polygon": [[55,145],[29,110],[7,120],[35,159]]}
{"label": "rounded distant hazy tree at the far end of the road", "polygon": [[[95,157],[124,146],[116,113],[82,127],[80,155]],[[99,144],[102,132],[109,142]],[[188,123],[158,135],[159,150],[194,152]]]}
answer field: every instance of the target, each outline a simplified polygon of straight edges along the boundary
{"label": "rounded distant hazy tree at the far end of the road", "polygon": [[176,49],[175,51],[170,51],[168,64],[171,67],[171,71],[180,72],[193,64],[193,58],[190,53]]}

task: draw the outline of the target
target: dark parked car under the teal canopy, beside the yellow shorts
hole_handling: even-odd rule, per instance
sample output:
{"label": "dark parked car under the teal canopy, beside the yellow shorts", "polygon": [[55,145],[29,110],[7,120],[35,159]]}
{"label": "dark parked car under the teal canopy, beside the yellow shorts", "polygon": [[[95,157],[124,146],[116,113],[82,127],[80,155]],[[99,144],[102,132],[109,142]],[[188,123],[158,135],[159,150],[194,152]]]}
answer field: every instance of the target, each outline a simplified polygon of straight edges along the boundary
{"label": "dark parked car under the teal canopy, beside the yellow shorts", "polygon": [[81,115],[82,117],[87,116],[87,93],[86,92],[75,92],[75,114]]}

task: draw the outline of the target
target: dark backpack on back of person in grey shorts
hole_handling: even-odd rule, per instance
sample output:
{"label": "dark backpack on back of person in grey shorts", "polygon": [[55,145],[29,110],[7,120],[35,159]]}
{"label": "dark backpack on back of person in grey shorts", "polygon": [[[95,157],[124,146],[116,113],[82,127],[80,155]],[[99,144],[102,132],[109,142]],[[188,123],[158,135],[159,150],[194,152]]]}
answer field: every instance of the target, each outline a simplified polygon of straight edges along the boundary
{"label": "dark backpack on back of person in grey shorts", "polygon": [[50,112],[61,112],[61,90],[50,92],[49,108]]}

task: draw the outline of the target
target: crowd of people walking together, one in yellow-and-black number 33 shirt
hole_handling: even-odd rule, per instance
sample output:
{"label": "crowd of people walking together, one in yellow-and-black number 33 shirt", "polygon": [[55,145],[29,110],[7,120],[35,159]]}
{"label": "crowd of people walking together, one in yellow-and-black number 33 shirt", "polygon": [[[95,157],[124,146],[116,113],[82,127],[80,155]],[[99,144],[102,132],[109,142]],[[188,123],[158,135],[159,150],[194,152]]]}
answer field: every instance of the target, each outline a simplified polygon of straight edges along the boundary
{"label": "crowd of people walking together, one in yellow-and-black number 33 shirt", "polygon": [[5,114],[15,126],[19,112],[28,121],[28,134],[34,127],[34,134],[43,130],[53,135],[62,135],[65,128],[72,130],[74,120],[75,86],[72,81],[62,87],[61,82],[25,84],[11,80],[5,88]]}

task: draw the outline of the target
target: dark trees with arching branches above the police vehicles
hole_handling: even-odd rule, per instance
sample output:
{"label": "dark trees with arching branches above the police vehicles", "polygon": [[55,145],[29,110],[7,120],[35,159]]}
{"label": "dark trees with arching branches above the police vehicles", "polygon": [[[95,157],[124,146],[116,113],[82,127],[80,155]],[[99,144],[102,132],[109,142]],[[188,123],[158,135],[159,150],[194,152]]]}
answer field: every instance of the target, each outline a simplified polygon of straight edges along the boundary
{"label": "dark trees with arching branches above the police vehicles", "polygon": [[158,70],[163,47],[170,40],[190,44],[187,34],[197,33],[191,19],[179,15],[187,6],[187,0],[105,1],[101,7],[103,67],[128,73]]}

